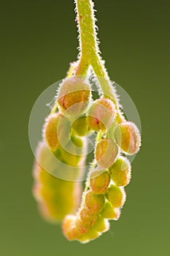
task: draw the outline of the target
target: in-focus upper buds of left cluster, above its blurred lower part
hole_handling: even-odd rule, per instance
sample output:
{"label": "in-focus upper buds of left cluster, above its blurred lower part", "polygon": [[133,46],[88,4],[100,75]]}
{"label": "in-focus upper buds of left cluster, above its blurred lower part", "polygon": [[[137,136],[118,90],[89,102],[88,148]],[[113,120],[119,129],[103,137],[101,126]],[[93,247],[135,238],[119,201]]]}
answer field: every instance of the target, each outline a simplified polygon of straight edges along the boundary
{"label": "in-focus upper buds of left cluster, above its blurred lower part", "polygon": [[[47,146],[61,162],[76,167],[82,159],[83,141],[88,126],[81,116],[88,107],[90,86],[82,78],[66,78],[58,91],[58,112],[45,121]],[[81,127],[81,129],[80,129]]]}

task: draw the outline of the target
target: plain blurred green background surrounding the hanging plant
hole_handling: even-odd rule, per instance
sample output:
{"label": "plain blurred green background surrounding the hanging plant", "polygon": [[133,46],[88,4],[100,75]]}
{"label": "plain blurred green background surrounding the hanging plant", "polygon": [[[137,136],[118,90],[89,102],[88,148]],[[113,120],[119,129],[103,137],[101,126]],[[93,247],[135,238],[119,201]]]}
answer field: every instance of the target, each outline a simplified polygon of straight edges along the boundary
{"label": "plain blurred green background surrounding the hanging plant", "polygon": [[136,104],[142,148],[118,222],[82,245],[44,222],[31,194],[28,119],[39,94],[77,58],[73,0],[1,1],[0,255],[169,256],[169,1],[96,0],[112,80]]}

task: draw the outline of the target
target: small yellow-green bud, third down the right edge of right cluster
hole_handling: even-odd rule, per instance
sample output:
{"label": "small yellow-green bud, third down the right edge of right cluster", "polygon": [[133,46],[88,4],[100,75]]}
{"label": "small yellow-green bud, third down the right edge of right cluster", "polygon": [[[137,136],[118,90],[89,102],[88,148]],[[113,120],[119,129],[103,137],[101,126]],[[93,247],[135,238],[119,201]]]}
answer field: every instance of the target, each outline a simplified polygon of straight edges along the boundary
{"label": "small yellow-green bud, third down the right edge of right cluster", "polygon": [[119,208],[125,203],[125,191],[113,184],[107,190],[106,197],[114,208]]}

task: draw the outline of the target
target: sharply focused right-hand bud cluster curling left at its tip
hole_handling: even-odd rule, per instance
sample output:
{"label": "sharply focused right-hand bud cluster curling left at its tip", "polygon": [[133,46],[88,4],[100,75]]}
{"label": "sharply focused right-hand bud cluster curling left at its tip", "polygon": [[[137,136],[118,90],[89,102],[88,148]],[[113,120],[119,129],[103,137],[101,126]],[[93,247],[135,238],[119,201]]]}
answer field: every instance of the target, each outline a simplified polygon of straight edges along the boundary
{"label": "sharply focused right-hand bud cluster curling left at its tip", "polygon": [[[124,118],[117,118],[111,99],[96,99],[87,115],[73,125],[77,135],[89,131],[100,132],[96,141],[97,168],[90,171],[88,190],[82,195],[82,204],[76,215],[63,220],[63,233],[69,240],[87,243],[109,229],[109,219],[117,220],[125,203],[125,187],[131,179],[131,165],[121,156],[139,150],[140,135],[136,125]],[[108,136],[112,127],[112,136]]]}

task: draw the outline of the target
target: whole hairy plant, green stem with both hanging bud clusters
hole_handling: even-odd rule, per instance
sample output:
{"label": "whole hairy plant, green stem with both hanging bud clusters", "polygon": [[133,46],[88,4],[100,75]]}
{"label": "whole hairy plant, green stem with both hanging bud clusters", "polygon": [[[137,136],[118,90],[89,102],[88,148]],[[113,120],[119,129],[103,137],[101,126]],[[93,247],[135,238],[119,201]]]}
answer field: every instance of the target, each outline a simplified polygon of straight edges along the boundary
{"label": "whole hairy plant, green stem with both hanging bud clusters", "polygon": [[[124,187],[131,179],[131,163],[125,155],[136,154],[141,139],[136,124],[123,115],[99,56],[93,1],[76,0],[75,4],[80,54],[61,82],[45,120],[36,150],[33,192],[45,219],[62,222],[67,239],[87,243],[109,230],[109,219],[120,217]],[[97,96],[93,95],[89,72],[98,82]],[[90,157],[85,140],[89,135],[96,138]],[[61,171],[63,165],[69,168],[72,181],[49,173],[53,159]],[[82,192],[81,182],[75,181],[89,161]]]}

